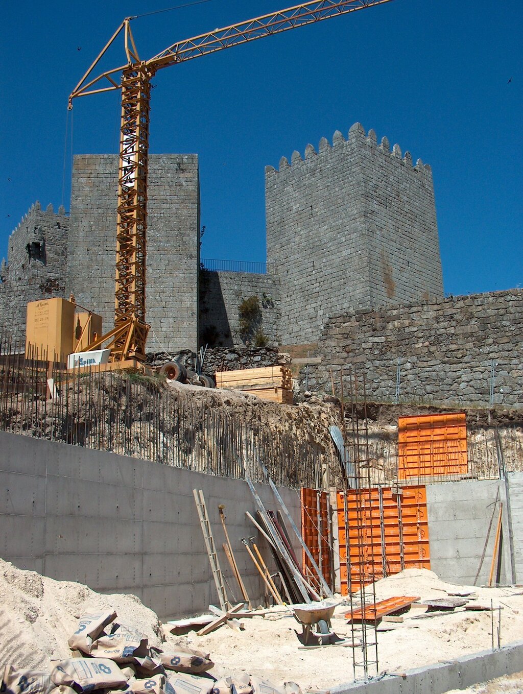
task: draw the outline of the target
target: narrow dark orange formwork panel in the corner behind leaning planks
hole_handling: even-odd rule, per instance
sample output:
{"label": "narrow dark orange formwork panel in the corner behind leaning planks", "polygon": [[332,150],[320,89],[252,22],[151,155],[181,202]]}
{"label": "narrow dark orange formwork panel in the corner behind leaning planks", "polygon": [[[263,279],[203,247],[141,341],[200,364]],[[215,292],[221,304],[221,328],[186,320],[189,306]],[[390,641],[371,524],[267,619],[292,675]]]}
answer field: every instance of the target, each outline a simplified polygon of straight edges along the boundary
{"label": "narrow dark orange formwork panel in the corner behind leaning planks", "polygon": [[[330,532],[329,532],[329,496],[326,491],[301,488],[301,536],[310,554],[324,575],[325,582],[332,586]],[[303,551],[305,575],[318,589],[319,581],[310,559]]]}

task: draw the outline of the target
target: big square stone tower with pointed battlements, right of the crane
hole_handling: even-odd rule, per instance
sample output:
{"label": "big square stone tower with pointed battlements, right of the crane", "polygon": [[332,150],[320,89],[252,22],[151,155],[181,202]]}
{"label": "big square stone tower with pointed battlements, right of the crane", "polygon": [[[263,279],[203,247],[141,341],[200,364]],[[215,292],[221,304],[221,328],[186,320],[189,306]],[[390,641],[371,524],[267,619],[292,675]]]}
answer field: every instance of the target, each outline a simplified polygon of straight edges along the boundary
{"label": "big square stone tower with pointed battlements, right of the crane", "polygon": [[265,196],[283,344],[316,341],[333,314],[443,296],[431,168],[374,130],[266,167]]}

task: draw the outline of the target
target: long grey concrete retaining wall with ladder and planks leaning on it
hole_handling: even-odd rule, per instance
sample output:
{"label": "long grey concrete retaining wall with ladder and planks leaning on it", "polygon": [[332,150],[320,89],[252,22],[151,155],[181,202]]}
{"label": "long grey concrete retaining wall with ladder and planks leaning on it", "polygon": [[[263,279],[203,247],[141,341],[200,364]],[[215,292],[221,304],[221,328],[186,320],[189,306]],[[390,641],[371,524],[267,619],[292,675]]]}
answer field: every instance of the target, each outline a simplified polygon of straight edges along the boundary
{"label": "long grey concrete retaining wall with ladder and planks leaning on it", "polygon": [[[135,593],[163,619],[204,611],[217,604],[217,593],[192,496],[197,488],[219,548],[217,505],[225,504],[240,573],[251,599],[260,598],[258,573],[240,542],[258,535],[245,517],[254,511],[246,482],[5,432],[0,451],[0,556],[15,566],[102,593]],[[274,508],[269,487],[258,490]],[[299,496],[290,489],[281,495],[299,525]],[[219,561],[229,577],[221,549]]]}

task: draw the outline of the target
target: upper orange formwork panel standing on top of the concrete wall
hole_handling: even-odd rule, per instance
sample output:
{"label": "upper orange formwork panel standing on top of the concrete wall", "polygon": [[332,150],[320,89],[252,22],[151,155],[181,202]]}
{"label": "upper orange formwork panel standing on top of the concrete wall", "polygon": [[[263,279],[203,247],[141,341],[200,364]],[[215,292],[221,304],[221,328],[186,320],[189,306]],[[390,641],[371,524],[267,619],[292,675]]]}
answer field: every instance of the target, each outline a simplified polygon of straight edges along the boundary
{"label": "upper orange formwork panel standing on top of the concrete wall", "polygon": [[399,480],[467,475],[465,412],[399,417],[398,455]]}

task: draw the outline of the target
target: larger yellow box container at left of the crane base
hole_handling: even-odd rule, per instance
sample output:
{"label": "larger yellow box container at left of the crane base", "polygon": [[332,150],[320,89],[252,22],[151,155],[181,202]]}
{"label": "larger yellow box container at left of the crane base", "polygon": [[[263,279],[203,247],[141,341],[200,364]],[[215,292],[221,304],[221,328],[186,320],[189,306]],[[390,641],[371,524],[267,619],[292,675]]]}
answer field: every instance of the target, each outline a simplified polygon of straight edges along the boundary
{"label": "larger yellow box container at left of the crane base", "polygon": [[[74,303],[61,298],[31,301],[27,305],[26,357],[65,362],[73,351]],[[33,353],[33,349],[36,350]]]}

